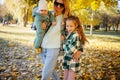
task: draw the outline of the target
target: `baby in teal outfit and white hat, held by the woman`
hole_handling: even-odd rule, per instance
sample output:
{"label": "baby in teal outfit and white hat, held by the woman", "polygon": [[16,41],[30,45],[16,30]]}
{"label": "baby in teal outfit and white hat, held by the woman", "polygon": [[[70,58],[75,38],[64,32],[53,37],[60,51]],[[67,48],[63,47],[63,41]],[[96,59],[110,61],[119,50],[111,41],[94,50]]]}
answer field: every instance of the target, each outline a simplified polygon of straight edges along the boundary
{"label": "baby in teal outfit and white hat, held by the woman", "polygon": [[[46,0],[40,0],[38,7],[34,8],[32,11],[32,16],[34,17],[34,25],[36,26],[36,38],[34,40],[34,48],[36,53],[41,52],[41,43],[43,37],[48,30],[49,26],[55,26],[55,17],[51,11],[48,11],[48,5]],[[46,26],[42,26],[43,23]]]}

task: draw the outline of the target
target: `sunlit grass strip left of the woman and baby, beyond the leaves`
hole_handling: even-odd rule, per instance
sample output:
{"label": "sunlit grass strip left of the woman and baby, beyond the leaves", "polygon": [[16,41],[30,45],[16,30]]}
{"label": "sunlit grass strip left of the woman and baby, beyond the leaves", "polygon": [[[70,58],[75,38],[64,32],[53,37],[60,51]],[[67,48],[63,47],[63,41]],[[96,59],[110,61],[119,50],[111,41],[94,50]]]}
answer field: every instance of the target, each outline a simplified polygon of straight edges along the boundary
{"label": "sunlit grass strip left of the woman and baby, beyond the leaves", "polygon": [[29,27],[0,26],[0,39],[23,44],[33,44],[35,31]]}

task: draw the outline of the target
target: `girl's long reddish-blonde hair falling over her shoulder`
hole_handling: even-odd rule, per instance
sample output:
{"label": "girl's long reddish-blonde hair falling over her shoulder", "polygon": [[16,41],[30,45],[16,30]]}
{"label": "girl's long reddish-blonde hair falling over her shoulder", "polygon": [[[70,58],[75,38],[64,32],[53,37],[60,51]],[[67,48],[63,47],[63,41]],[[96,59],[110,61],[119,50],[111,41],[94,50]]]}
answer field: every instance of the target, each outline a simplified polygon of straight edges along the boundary
{"label": "girl's long reddish-blonde hair falling over her shoulder", "polygon": [[[88,40],[85,36],[83,27],[81,25],[80,19],[77,16],[69,16],[68,18],[66,18],[66,21],[67,20],[73,21],[73,23],[77,26],[76,31],[78,32],[78,34],[80,36],[82,44],[85,44],[85,42],[88,42]],[[66,25],[66,23],[65,23],[65,25]]]}

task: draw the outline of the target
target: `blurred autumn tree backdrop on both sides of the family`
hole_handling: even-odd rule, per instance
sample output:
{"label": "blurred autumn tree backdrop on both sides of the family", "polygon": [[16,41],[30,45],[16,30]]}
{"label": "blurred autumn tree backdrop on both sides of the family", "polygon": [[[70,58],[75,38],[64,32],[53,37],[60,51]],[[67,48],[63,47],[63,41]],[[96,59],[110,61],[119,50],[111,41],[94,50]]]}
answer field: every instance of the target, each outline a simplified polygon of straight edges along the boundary
{"label": "blurred autumn tree backdrop on both sides of the family", "polygon": [[[0,23],[26,27],[33,22],[32,9],[39,0],[0,0]],[[47,0],[52,10],[52,1]],[[120,0],[69,0],[72,14],[80,17],[83,27],[92,30],[119,30]]]}

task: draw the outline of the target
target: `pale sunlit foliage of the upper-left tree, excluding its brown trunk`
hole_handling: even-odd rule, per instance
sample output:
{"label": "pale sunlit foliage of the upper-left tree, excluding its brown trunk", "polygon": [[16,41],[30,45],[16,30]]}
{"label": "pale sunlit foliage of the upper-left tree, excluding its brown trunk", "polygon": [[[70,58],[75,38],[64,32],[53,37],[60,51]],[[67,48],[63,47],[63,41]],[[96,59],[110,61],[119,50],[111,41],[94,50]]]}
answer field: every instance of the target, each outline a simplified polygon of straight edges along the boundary
{"label": "pale sunlit foliage of the upper-left tree, excluding its brown trunk", "polygon": [[5,4],[9,12],[14,18],[17,18],[19,23],[23,22],[24,8],[28,8],[28,4],[24,0],[5,0]]}

